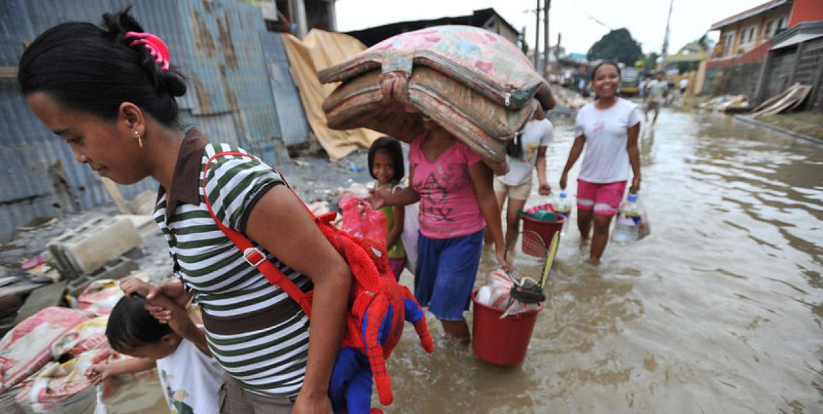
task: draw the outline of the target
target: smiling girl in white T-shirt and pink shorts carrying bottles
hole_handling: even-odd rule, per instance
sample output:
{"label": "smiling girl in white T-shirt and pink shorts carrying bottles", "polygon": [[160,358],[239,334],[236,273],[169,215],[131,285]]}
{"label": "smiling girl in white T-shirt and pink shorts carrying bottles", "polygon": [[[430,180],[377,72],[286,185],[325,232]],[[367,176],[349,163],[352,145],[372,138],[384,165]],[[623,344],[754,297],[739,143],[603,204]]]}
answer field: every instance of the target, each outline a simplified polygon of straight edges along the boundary
{"label": "smiling girl in white T-shirt and pink shorts carrying bottles", "polygon": [[592,85],[597,99],[577,114],[574,145],[560,177],[560,188],[565,189],[569,170],[585,147],[577,180],[577,226],[581,242],[585,242],[594,223],[588,255],[594,264],[600,262],[606,248],[611,217],[623,199],[630,166],[634,177],[629,192],[635,193],[640,188],[637,146],[640,109],[617,96],[620,83],[620,67],[615,62],[602,62],[594,67]]}

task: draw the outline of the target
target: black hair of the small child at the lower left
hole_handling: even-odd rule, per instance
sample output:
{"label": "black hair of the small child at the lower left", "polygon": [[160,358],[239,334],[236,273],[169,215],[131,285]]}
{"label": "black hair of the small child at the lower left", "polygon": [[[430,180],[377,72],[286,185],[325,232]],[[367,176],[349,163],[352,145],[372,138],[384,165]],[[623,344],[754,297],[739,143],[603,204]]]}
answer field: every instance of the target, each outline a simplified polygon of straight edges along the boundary
{"label": "black hair of the small child at the lower left", "polygon": [[114,351],[159,343],[161,338],[172,333],[168,324],[160,324],[144,306],[146,301],[128,296],[120,298],[114,305],[105,327],[105,336]]}

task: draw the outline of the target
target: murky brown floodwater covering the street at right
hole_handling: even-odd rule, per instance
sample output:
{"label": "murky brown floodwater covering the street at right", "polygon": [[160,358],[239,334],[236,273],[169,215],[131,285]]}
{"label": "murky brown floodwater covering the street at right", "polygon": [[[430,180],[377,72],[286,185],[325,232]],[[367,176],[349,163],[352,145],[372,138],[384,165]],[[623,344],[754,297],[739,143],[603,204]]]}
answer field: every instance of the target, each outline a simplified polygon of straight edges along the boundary
{"label": "murky brown floodwater covering the street at right", "polygon": [[823,146],[670,111],[641,141],[652,235],[593,267],[570,226],[520,366],[442,339],[427,355],[407,328],[385,412],[823,412]]}

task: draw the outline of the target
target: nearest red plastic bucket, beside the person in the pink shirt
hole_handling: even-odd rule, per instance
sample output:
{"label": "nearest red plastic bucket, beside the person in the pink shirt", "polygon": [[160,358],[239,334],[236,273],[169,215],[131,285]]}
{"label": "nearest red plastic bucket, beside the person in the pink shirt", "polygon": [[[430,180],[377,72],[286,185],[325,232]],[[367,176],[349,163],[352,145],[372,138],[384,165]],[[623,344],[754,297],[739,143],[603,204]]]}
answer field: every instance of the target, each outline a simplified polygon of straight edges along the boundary
{"label": "nearest red plastic bucket, beside the person in the pink shirt", "polygon": [[523,361],[532,340],[534,322],[540,307],[500,319],[504,310],[483,305],[472,292],[474,318],[472,320],[472,349],[481,360],[499,366],[513,366]]}

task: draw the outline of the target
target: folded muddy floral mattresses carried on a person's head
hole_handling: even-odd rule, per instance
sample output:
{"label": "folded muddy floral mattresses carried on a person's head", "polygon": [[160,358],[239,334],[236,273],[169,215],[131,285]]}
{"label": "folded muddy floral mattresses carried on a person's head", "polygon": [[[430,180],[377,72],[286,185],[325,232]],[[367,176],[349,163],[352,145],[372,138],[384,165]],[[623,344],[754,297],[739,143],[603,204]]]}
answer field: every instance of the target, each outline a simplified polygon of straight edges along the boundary
{"label": "folded muddy floral mattresses carried on a person's head", "polygon": [[398,34],[319,72],[342,82],[323,102],[328,126],[366,127],[411,142],[430,117],[497,174],[505,145],[554,107],[549,84],[509,40],[463,25]]}

